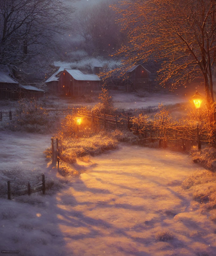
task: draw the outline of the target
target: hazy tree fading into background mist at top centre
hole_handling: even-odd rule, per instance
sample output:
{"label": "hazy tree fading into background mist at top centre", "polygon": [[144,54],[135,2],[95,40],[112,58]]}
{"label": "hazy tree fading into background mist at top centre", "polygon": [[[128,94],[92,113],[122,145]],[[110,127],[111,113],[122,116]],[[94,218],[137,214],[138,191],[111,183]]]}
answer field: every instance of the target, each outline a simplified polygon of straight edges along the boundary
{"label": "hazy tree fading into background mist at top centre", "polygon": [[116,0],[102,1],[87,6],[77,15],[77,33],[86,43],[92,43],[94,51],[109,55],[121,46],[123,34],[117,24],[117,14],[110,8]]}

